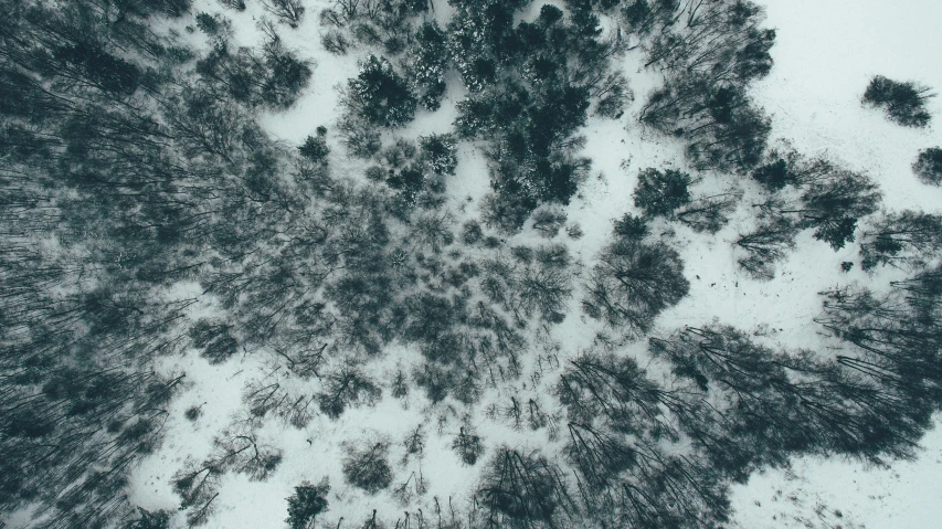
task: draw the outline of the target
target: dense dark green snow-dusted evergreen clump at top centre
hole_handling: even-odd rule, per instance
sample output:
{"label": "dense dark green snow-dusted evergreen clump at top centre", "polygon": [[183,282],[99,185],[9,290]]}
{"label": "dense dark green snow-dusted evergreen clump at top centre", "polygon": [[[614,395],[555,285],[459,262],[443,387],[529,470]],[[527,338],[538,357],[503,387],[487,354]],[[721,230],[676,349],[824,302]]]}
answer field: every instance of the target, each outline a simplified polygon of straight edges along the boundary
{"label": "dense dark green snow-dusted evergreen clump at top centre", "polygon": [[493,225],[519,230],[544,202],[569,203],[589,160],[574,136],[592,100],[616,115],[627,99],[625,81],[608,72],[623,49],[617,34],[602,38],[597,17],[572,3],[565,17],[543,6],[536,21],[512,25],[520,6],[455,2],[448,46],[472,95],[458,104],[463,138],[488,140],[491,188],[485,209]]}

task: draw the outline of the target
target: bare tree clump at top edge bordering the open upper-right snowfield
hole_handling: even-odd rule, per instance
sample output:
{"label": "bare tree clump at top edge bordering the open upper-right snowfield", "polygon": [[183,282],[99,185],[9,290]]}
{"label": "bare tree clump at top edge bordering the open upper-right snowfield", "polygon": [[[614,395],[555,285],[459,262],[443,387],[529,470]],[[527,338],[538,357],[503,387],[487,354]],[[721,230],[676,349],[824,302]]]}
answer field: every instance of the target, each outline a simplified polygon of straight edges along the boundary
{"label": "bare tree clump at top edge bordering the open upper-right snowfield", "polygon": [[760,28],[761,8],[740,0],[624,3],[621,14],[641,38],[646,65],[666,77],[641,123],[682,138],[698,169],[742,173],[761,162],[771,125],[745,94],[772,68],[775,31]]}

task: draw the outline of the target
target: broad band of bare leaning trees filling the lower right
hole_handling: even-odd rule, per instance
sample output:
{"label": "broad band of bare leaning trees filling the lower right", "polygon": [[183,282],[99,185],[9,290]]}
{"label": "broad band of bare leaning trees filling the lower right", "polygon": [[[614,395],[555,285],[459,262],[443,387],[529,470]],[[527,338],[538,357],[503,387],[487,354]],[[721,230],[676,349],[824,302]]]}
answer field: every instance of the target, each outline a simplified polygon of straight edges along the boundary
{"label": "broad band of bare leaning trees filling the lower right", "polygon": [[[512,501],[487,506],[490,516],[512,518],[494,527],[710,527],[729,515],[731,482],[794,455],[913,457],[939,406],[938,281],[932,269],[893,284],[886,297],[824,293],[818,321],[846,343],[836,359],[770,349],[711,325],[649,340],[652,356],[674,373],[666,385],[611,351],[571,360],[557,393],[574,487],[553,479],[551,462],[521,473],[522,484],[486,475],[483,490],[515,487]],[[515,468],[493,465],[493,473]],[[543,497],[555,509],[541,509]]]}

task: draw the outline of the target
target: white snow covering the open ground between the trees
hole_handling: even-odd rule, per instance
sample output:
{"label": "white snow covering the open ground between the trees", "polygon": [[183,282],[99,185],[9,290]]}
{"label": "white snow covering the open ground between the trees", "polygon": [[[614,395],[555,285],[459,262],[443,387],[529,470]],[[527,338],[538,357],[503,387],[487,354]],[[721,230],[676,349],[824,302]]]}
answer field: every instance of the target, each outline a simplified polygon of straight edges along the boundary
{"label": "white snow covering the open ground between the trees", "polygon": [[[335,85],[353,76],[358,57],[364,56],[362,51],[340,57],[324,51],[317,13],[329,3],[307,2],[301,25],[296,30],[283,28],[288,45],[316,63],[311,86],[298,104],[286,113],[262,119],[274,137],[290,145],[299,144],[318,125],[334,126],[340,116]],[[434,3],[435,15],[444,17],[447,12],[444,0]],[[546,2],[534,2],[528,14],[538,12],[542,3]],[[936,125],[923,130],[895,125],[879,112],[860,105],[864,88],[875,74],[914,80],[942,89],[942,32],[939,31],[942,2],[762,0],[760,3],[768,4],[766,25],[777,30],[772,50],[775,65],[769,77],[754,86],[752,95],[772,116],[772,138],[786,139],[808,156],[826,152],[848,169],[867,173],[880,182],[888,210],[942,211],[942,189],[919,183],[910,170],[920,149],[942,145],[938,125],[942,120],[942,98],[930,100]],[[219,12],[222,8],[215,1],[201,0],[194,4],[194,10]],[[233,19],[239,38],[248,40],[255,31],[253,18],[257,19],[262,12],[257,3],[253,3],[243,13],[226,11],[225,14]],[[579,223],[586,233],[583,239],[570,242],[573,254],[586,269],[607,241],[612,221],[624,212],[636,212],[631,192],[637,171],[646,167],[687,168],[679,142],[645,133],[635,120],[638,107],[647,93],[658,85],[659,77],[655,72],[638,71],[639,56],[634,53],[624,60],[625,74],[635,93],[634,104],[620,120],[591,118],[584,128],[585,154],[593,159],[592,177],[583,182],[570,204],[569,221]],[[449,83],[442,109],[434,114],[420,110],[404,136],[417,137],[449,129],[455,117],[454,105],[464,96],[456,81]],[[361,173],[366,166],[347,159],[337,136],[330,138],[335,170],[348,171],[351,176]],[[719,189],[731,183],[728,177],[709,173],[702,177],[695,190]],[[487,167],[480,149],[462,144],[458,174],[448,184],[456,213],[477,216],[487,184]],[[745,187],[743,202],[748,203],[750,192],[755,190]],[[458,210],[459,204],[466,205]],[[763,328],[760,339],[770,345],[814,348],[822,340],[812,320],[821,307],[819,290],[837,282],[885,282],[892,276],[889,272],[880,272],[871,277],[857,269],[842,275],[839,264],[855,260],[856,248],[848,245],[834,252],[827,244],[804,233],[795,251],[779,267],[774,281],[749,279],[737,271],[729,241],[737,225],[750,219],[748,205],[743,205],[733,222],[716,235],[698,235],[684,226],[655,226],[664,236],[674,237],[691,284],[689,296],[660,316],[659,329],[709,324],[716,318],[745,331]],[[538,240],[532,230],[525,230],[516,237]],[[601,326],[581,317],[579,299],[576,288],[565,321],[542,341],[532,339],[536,352],[567,358],[590,345]],[[202,309],[211,310],[211,301],[208,300]],[[634,349],[643,353],[644,347],[633,346]],[[370,364],[369,369],[378,380],[388,380],[398,366],[415,361],[416,355],[411,350],[389,350],[383,360]],[[285,369],[261,356],[233,358],[223,366],[211,367],[195,353],[166,359],[163,368],[186,371],[189,388],[170,410],[173,419],[168,422],[163,446],[135,470],[133,499],[144,508],[176,510],[179,498],[169,483],[173,473],[187,458],[205,457],[213,436],[239,419],[243,409],[241,395],[247,382],[284,381]],[[520,389],[539,398],[557,378],[558,373],[548,372],[537,387]],[[529,384],[529,381],[521,379],[520,384]],[[337,523],[342,517],[347,521],[340,527],[360,527],[372,509],[378,509],[387,520],[395,520],[404,508],[388,491],[370,497],[343,485],[341,442],[363,435],[391,441],[394,483],[419,470],[427,479],[430,491],[423,502],[410,506],[412,511],[421,508],[428,516],[433,497],[443,506],[452,498],[457,508],[464,508],[483,465],[462,465],[448,446],[461,419],[448,416],[448,411],[442,406],[433,408],[420,393],[413,391],[405,405],[387,396],[375,406],[349,410],[337,421],[316,416],[300,430],[268,420],[260,436],[284,452],[281,466],[264,483],[252,483],[242,475],[226,475],[216,511],[204,527],[283,528],[287,516],[285,498],[293,493],[293,487],[301,480],[316,484],[325,476],[332,486],[325,522]],[[552,446],[546,447],[542,431],[515,431],[485,416],[487,405],[498,398],[493,392],[486,393],[477,406],[478,415],[469,421],[478,426],[487,448],[507,443],[542,446],[551,452]],[[201,404],[203,415],[199,421],[183,419],[184,410]],[[448,419],[441,429],[440,416]],[[400,464],[404,453],[401,440],[420,424],[428,434],[425,456],[421,462],[412,458]],[[755,475],[747,485],[734,487],[733,525],[742,529],[942,527],[942,479],[939,478],[942,476],[942,429],[936,427],[928,435],[923,446],[918,461],[897,462],[889,469],[868,468],[853,462],[803,458],[794,462],[791,470]],[[487,455],[486,452],[485,458]],[[172,527],[184,526],[183,514],[174,515]]]}

